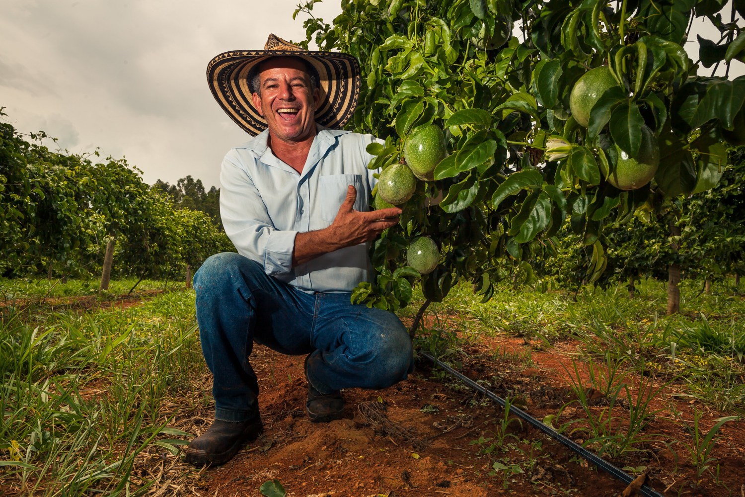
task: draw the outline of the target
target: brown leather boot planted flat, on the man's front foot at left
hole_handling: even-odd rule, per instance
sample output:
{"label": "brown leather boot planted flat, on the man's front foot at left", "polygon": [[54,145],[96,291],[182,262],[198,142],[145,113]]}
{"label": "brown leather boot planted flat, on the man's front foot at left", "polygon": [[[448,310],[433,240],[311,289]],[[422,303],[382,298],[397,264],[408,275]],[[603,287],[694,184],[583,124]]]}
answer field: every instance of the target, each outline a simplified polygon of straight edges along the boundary
{"label": "brown leather boot planted flat, on the man's front foot at left", "polygon": [[220,466],[231,460],[246,443],[256,440],[264,425],[261,418],[244,422],[215,420],[186,448],[187,463],[194,466]]}

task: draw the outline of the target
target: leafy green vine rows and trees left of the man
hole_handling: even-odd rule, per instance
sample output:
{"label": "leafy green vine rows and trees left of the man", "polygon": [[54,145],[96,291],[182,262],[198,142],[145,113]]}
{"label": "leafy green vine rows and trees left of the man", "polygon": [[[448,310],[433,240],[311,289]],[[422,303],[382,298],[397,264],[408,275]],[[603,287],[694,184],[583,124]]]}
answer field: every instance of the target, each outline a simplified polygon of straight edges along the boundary
{"label": "leafy green vine rows and trees left of the man", "polygon": [[217,189],[149,186],[125,159],[50,151],[46,137],[0,122],[0,276],[97,273],[110,245],[114,276],[175,278],[235,250]]}

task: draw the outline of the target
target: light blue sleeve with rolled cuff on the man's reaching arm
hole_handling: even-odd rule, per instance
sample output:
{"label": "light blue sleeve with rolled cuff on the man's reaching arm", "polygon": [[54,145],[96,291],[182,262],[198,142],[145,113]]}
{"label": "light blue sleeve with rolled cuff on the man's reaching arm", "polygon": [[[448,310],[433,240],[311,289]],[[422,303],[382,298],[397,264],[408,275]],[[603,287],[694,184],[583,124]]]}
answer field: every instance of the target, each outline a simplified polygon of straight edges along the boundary
{"label": "light blue sleeve with rolled cuff on the man's reaching arm", "polygon": [[250,174],[229,154],[223,159],[220,185],[223,227],[238,253],[259,262],[271,276],[290,273],[297,231],[273,227]]}

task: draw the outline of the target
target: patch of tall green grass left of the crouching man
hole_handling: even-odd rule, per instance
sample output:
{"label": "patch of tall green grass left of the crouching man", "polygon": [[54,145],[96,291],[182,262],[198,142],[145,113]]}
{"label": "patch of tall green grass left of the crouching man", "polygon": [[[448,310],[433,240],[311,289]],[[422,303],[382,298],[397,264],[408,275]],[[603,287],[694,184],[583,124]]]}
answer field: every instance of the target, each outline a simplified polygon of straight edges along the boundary
{"label": "patch of tall green grass left of the crouching man", "polygon": [[194,406],[174,399],[210,398],[189,381],[206,369],[193,294],[125,310],[6,308],[1,317],[0,493],[145,493],[147,454],[172,457],[184,443],[172,437],[188,435],[174,417]]}

